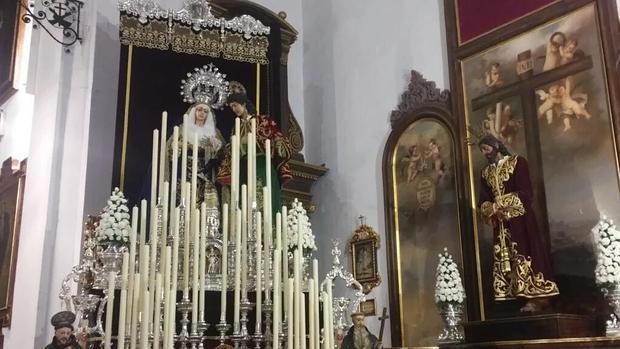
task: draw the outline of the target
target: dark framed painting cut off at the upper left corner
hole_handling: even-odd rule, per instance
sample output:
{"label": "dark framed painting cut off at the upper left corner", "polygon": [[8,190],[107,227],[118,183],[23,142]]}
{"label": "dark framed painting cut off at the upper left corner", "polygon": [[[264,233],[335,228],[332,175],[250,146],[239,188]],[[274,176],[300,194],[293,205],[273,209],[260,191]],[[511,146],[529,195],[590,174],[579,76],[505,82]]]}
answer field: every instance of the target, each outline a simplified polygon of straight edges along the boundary
{"label": "dark framed painting cut off at the upper left corner", "polygon": [[24,23],[18,0],[0,2],[0,105],[16,92],[15,64]]}

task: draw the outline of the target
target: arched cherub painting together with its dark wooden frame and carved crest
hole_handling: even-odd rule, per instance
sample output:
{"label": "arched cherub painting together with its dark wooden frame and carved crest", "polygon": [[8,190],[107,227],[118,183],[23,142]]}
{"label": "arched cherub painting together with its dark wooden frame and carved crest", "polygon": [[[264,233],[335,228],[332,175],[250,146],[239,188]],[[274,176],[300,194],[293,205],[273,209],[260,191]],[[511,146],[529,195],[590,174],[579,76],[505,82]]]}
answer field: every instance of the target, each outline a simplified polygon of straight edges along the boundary
{"label": "arched cherub painting together with its dark wooden frame and carved crest", "polygon": [[433,347],[442,328],[434,301],[444,247],[462,263],[460,174],[450,94],[411,72],[392,112],[383,153],[390,316],[394,347]]}

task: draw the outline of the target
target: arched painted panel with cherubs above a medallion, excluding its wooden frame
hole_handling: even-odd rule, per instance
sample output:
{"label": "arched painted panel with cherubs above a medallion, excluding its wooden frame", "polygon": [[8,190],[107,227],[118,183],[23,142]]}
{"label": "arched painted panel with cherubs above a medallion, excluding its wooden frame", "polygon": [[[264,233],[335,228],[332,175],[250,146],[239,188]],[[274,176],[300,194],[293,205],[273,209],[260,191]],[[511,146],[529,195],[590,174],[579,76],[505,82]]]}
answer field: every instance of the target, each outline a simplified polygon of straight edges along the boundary
{"label": "arched painted panel with cherubs above a medallion, excluding its wooden frame", "polygon": [[[454,142],[442,122],[421,118],[394,145],[395,220],[399,227],[403,346],[432,347],[443,326],[432,292],[436,251],[460,251]],[[455,256],[461,260],[460,256]]]}

